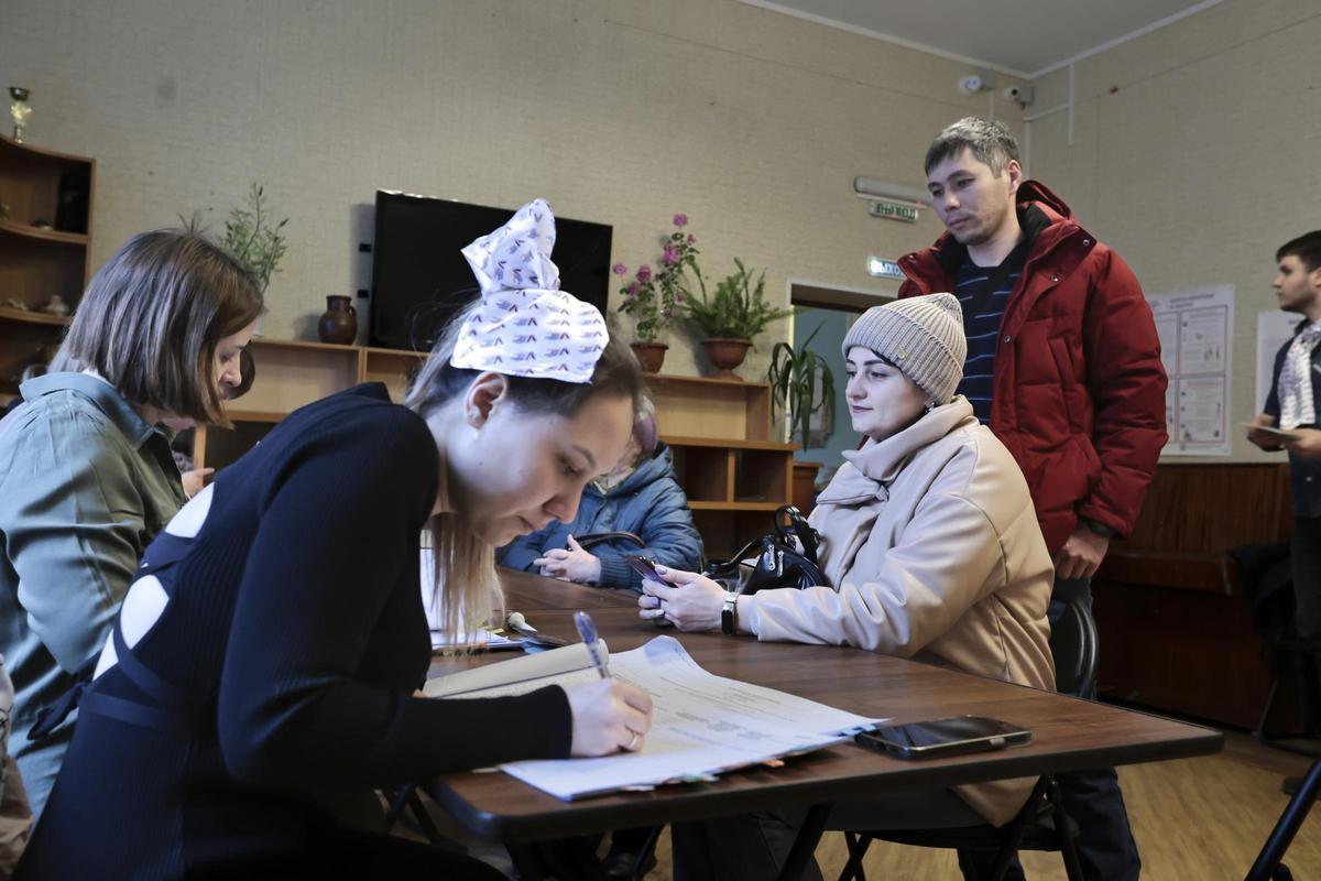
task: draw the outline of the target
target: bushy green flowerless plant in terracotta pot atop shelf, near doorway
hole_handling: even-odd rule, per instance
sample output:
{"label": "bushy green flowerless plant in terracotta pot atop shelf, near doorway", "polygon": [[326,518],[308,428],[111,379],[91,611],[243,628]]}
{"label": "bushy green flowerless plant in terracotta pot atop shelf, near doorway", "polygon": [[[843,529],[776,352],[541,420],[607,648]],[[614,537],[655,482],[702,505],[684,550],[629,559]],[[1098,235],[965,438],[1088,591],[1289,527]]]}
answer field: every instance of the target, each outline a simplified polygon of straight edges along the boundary
{"label": "bushy green flowerless plant in terracotta pot atop shelf, near doorway", "polygon": [[683,309],[688,320],[701,332],[701,346],[716,367],[716,376],[738,379],[733,369],[742,363],[748,350],[753,347],[753,337],[766,329],[771,321],[778,321],[794,313],[793,309],[773,309],[766,302],[766,273],[752,280],[752,271],[742,260],[734,258],[738,269],[716,284],[716,292],[707,297],[707,284],[700,272],[697,284],[701,299],[683,291]]}

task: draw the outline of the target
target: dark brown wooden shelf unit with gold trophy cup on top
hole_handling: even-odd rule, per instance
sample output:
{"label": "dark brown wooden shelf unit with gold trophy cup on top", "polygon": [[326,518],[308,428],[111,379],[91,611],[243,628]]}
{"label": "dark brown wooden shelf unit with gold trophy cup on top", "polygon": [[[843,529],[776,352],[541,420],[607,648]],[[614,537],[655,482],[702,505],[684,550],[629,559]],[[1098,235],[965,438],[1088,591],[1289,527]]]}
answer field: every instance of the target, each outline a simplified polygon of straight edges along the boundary
{"label": "dark brown wooden shelf unit with gold trophy cup on top", "polygon": [[[38,229],[54,223],[61,178],[87,178],[87,226],[82,230]],[[0,302],[17,300],[26,309],[0,306],[0,403],[18,391],[22,371],[46,363],[69,320],[41,312],[59,296],[78,308],[87,285],[91,215],[96,193],[96,160],[17,144],[0,135]]]}

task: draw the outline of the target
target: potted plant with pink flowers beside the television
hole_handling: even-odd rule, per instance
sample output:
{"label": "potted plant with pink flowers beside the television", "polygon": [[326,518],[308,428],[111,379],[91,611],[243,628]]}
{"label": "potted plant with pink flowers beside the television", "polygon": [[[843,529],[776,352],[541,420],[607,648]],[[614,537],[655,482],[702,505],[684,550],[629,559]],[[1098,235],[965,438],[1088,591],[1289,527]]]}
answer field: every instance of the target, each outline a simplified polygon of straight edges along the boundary
{"label": "potted plant with pink flowers beside the television", "polygon": [[[684,232],[688,226],[687,214],[674,215],[675,230],[664,239],[660,248],[658,269],[653,271],[646,263],[638,267],[633,279],[620,288],[622,302],[620,312],[633,316],[633,346],[634,354],[647,372],[657,372],[664,362],[664,353],[670,349],[662,337],[668,330],[675,318],[675,313],[683,299],[683,285],[680,279],[686,268],[697,269],[697,243],[696,236]],[[618,276],[627,275],[629,267],[616,263],[612,272]],[[700,273],[699,273],[700,276]]]}

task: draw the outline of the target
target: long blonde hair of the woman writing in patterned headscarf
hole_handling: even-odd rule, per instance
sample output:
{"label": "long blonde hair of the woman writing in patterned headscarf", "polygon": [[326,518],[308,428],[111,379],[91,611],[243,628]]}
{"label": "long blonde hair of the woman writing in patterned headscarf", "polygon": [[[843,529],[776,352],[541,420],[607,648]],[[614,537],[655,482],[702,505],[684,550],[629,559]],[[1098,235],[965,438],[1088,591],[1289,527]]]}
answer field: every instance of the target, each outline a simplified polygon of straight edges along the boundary
{"label": "long blonde hair of the woman writing in patterned headscarf", "polygon": [[[464,318],[476,306],[477,302],[450,320],[408,387],[404,405],[423,419],[466,392],[473,379],[481,374],[449,363]],[[588,400],[604,394],[627,396],[637,412],[645,391],[642,367],[627,345],[614,335],[596,362],[589,383],[527,376],[507,379],[509,398],[519,409],[568,417],[577,413]],[[432,516],[431,544],[436,571],[432,606],[443,613],[439,617],[445,633],[466,641],[480,623],[489,621],[491,613],[503,605],[495,575],[495,548],[480,539],[460,512]],[[444,602],[441,590],[445,592]]]}

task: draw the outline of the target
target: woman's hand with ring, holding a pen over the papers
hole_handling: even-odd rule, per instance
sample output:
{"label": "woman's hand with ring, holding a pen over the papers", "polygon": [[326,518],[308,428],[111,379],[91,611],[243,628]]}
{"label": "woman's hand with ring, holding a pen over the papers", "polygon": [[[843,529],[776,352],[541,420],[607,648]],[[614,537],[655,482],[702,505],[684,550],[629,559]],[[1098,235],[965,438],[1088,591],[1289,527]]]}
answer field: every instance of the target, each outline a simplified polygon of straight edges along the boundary
{"label": "woman's hand with ring, holding a pen over the papers", "polygon": [[608,756],[618,750],[638,752],[651,729],[651,696],[639,688],[610,678],[596,622],[585,612],[573,623],[587,646],[600,679],[565,688],[573,715],[572,756]]}

